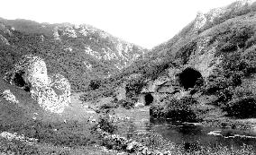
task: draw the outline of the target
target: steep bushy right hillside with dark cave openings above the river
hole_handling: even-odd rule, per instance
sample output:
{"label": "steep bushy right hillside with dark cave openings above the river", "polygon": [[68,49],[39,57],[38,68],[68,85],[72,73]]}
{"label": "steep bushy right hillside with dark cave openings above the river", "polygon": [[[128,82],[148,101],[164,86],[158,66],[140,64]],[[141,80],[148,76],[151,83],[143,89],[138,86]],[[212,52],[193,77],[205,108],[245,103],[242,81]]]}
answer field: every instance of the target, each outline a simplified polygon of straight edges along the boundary
{"label": "steep bushy right hillside with dark cave openings above the river", "polygon": [[[120,103],[125,105],[155,104],[151,109],[155,116],[169,111],[166,108],[197,102],[206,105],[201,112],[213,109],[223,112],[219,116],[254,117],[255,30],[255,2],[237,1],[198,13],[175,37],[107,79],[105,86],[94,92],[95,97],[121,93],[124,100]],[[82,97],[94,99],[91,92]]]}

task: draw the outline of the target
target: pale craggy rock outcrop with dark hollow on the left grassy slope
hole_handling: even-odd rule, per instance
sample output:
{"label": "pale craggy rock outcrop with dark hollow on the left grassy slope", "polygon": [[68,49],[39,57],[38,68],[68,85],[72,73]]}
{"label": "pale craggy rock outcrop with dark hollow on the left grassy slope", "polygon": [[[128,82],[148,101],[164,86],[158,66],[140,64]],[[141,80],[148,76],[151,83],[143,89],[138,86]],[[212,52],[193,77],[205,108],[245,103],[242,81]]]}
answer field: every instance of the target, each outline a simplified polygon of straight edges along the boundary
{"label": "pale craggy rock outcrop with dark hollow on the left grassy slope", "polygon": [[45,110],[62,113],[69,106],[69,81],[59,73],[49,75],[45,62],[39,56],[23,56],[4,78],[7,82],[30,91],[32,99]]}

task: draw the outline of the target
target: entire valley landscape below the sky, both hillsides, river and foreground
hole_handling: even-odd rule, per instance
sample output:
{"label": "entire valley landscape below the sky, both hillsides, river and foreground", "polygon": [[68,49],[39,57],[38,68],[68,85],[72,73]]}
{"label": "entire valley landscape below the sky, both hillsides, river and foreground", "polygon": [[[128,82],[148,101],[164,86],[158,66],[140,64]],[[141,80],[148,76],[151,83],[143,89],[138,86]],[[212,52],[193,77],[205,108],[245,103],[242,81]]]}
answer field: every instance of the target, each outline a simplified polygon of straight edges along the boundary
{"label": "entire valley landscape below the sky, both hillsides, river and foreground", "polygon": [[0,18],[2,154],[256,153],[256,3],[197,13],[152,49]]}

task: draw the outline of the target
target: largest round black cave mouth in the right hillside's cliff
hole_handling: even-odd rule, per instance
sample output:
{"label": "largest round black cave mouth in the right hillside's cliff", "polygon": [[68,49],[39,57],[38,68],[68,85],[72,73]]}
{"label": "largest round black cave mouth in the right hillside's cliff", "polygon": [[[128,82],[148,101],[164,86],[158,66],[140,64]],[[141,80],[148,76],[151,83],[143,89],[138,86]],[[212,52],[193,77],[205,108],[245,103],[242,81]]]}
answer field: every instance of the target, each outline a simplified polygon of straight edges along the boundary
{"label": "largest round black cave mouth in the right hillside's cliff", "polygon": [[202,84],[202,74],[193,68],[186,68],[178,75],[179,83],[184,89],[194,88],[196,85]]}

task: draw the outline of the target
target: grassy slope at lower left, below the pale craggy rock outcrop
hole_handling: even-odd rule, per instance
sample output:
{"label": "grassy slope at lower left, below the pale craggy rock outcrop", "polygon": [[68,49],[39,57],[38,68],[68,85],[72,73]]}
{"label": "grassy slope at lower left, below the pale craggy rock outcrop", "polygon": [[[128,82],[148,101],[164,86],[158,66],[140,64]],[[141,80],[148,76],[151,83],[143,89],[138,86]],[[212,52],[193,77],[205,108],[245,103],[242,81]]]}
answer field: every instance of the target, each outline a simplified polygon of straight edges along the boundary
{"label": "grassy slope at lower left, below the pale craggy rock outcrop", "polygon": [[[88,122],[89,116],[94,115],[87,113],[80,103],[73,102],[63,114],[54,115],[42,110],[28,92],[0,80],[0,92],[4,90],[11,90],[19,103],[14,104],[0,96],[0,133],[23,134],[36,138],[39,142],[30,145],[17,140],[7,141],[0,137],[1,153],[114,154],[95,146],[100,140],[96,134],[91,133],[91,128],[95,124]],[[36,116],[36,119],[32,119],[33,116]]]}

